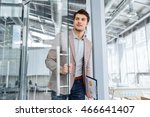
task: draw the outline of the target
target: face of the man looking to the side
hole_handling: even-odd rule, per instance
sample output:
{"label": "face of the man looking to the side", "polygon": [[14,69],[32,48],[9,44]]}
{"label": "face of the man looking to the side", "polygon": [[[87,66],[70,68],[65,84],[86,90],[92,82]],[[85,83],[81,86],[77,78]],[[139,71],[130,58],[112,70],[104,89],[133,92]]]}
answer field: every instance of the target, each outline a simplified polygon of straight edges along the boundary
{"label": "face of the man looking to the side", "polygon": [[84,31],[87,26],[87,17],[82,14],[76,14],[74,19],[74,29],[77,31]]}

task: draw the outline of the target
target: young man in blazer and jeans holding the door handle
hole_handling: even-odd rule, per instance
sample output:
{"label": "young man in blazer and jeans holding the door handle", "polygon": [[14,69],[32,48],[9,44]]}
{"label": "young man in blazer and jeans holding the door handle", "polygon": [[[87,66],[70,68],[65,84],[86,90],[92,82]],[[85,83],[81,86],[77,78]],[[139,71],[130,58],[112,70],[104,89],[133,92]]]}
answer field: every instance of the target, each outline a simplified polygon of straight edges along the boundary
{"label": "young man in blazer and jeans holding the door handle", "polygon": [[[67,78],[65,76],[70,74],[70,94],[69,100],[85,100],[85,95],[91,98],[88,91],[86,75],[90,75],[90,56],[92,50],[91,42],[86,38],[86,28],[89,22],[89,14],[81,9],[74,14],[73,29],[69,32],[69,46],[70,46],[70,67],[66,61],[61,57],[60,66],[60,84],[65,85]],[[67,38],[64,33],[58,34],[55,38],[54,45],[60,45],[60,52],[67,51]],[[65,46],[64,46],[65,45]],[[56,49],[51,49],[45,60],[46,66],[52,71],[52,76],[49,82],[49,88],[52,89],[52,99],[66,99],[67,88],[61,88],[61,95],[57,96],[57,82],[56,82]]]}

